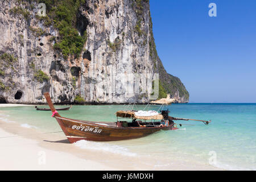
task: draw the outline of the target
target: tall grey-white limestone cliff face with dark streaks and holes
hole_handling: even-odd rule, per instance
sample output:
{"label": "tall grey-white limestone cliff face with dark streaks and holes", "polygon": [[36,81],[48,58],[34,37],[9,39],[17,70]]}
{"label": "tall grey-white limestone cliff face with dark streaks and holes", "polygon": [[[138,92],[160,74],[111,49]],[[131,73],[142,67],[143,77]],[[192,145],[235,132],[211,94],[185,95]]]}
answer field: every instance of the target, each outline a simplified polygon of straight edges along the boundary
{"label": "tall grey-white limestone cliff face with dark streaks and holes", "polygon": [[0,2],[1,102],[46,103],[49,92],[60,104],[76,96],[88,103],[147,103],[156,73],[171,97],[188,102],[185,86],[157,55],[147,0],[86,1],[76,14],[77,31],[87,35],[77,58],[53,47],[59,30],[37,17],[39,1],[19,2]]}

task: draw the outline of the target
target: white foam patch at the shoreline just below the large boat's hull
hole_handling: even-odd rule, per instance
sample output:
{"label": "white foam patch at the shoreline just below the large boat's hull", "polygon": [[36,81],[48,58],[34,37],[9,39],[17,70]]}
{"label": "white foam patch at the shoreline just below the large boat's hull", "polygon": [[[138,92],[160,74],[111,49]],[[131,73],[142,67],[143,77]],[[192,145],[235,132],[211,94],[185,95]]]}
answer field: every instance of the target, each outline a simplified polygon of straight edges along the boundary
{"label": "white foam patch at the shoreline just below the large boat's hull", "polygon": [[109,144],[109,143],[100,143],[100,142],[91,142],[86,140],[80,140],[75,143],[75,146],[82,149],[94,150],[94,151],[104,151],[111,152],[114,154],[121,154],[125,156],[137,156],[136,153],[130,152],[127,148]]}

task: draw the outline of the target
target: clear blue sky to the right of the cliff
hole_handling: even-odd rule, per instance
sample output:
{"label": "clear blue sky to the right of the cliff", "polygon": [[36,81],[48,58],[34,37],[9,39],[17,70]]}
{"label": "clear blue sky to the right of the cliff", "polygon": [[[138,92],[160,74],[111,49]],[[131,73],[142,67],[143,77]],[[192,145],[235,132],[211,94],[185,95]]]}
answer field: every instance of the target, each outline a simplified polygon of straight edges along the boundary
{"label": "clear blue sky to the right of the cliff", "polygon": [[150,0],[150,10],[158,55],[190,102],[256,103],[255,0]]}

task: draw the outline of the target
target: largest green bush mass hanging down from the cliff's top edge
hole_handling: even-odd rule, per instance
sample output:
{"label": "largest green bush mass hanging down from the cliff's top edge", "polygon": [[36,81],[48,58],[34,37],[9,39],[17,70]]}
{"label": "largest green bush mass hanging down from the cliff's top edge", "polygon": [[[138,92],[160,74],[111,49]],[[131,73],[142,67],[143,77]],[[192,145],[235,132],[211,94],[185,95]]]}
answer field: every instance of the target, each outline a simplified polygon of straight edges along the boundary
{"label": "largest green bush mass hanging down from the cliff's top edge", "polygon": [[40,0],[39,3],[46,4],[48,12],[47,18],[44,19],[47,26],[54,24],[59,30],[60,40],[55,43],[54,48],[59,49],[66,59],[69,56],[77,58],[84,47],[87,36],[86,32],[83,32],[84,36],[79,35],[75,28],[77,12],[85,0]]}

